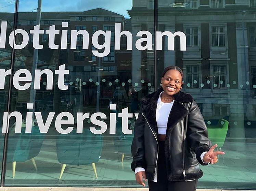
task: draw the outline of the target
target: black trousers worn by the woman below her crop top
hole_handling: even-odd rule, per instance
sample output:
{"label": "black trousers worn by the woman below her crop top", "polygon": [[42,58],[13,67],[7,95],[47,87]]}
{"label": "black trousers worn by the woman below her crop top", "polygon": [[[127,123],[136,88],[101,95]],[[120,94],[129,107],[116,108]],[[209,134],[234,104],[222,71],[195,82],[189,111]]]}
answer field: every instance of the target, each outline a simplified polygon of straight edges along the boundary
{"label": "black trousers worn by the woman below her crop top", "polygon": [[164,141],[158,141],[157,182],[149,181],[149,191],[195,191],[197,179],[193,181],[168,181],[164,152]]}

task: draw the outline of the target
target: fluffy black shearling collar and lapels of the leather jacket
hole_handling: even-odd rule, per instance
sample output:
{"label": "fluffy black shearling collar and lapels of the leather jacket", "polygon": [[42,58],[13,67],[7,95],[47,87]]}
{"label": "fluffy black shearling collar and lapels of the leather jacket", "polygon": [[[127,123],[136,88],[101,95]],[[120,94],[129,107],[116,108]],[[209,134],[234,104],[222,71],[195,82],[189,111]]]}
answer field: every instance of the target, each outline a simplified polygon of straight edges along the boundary
{"label": "fluffy black shearling collar and lapels of the leather jacket", "polygon": [[[158,129],[156,123],[156,106],[157,100],[159,98],[159,94],[163,91],[163,88],[159,88],[156,92],[146,95],[144,98],[140,100],[141,104],[144,105],[143,113],[145,114],[146,118],[148,119],[151,126],[154,128],[158,136]],[[175,101],[171,108],[168,123],[167,123],[167,130],[166,135],[171,133],[171,130],[174,126],[186,115],[189,114],[189,111],[183,106],[183,103],[192,102],[193,98],[190,94],[184,93],[179,91],[175,95]]]}

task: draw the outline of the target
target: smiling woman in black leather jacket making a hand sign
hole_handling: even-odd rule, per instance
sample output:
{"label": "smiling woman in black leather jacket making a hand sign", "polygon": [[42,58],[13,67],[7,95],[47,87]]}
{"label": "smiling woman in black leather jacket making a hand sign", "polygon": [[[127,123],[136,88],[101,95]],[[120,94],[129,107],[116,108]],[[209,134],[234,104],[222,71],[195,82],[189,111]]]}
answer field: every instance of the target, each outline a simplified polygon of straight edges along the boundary
{"label": "smiling woman in black leather jacket making a hand sign", "polygon": [[[183,72],[169,66],[163,74],[161,88],[141,99],[131,145],[136,181],[150,191],[195,191],[203,176],[199,163],[218,161],[211,147],[207,128],[199,107],[190,94],[180,91]],[[144,179],[144,181],[143,181]]]}

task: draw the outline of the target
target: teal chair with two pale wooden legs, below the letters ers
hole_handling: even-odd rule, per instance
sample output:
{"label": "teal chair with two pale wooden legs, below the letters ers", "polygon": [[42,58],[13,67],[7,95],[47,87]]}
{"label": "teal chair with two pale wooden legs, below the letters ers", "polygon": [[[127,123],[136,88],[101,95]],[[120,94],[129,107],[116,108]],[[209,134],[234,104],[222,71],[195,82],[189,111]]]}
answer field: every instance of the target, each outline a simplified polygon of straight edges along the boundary
{"label": "teal chair with two pale wooden legs, below the letters ers", "polygon": [[59,135],[56,141],[57,159],[62,164],[59,180],[67,165],[91,164],[95,178],[98,178],[96,165],[102,151],[103,136],[92,134],[89,129],[77,134],[76,130],[67,135]]}

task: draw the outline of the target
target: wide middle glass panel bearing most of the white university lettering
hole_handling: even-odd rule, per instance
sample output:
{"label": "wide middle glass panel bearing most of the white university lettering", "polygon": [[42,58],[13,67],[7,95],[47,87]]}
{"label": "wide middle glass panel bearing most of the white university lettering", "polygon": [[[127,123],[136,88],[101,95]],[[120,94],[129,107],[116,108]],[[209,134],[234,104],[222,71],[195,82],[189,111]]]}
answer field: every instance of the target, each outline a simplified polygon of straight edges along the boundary
{"label": "wide middle glass panel bearing most of the white university lettering", "polygon": [[[139,187],[130,149],[139,100],[155,88],[154,1],[38,2],[19,3],[5,186]],[[148,44],[136,45],[140,31]]]}

